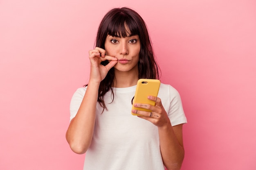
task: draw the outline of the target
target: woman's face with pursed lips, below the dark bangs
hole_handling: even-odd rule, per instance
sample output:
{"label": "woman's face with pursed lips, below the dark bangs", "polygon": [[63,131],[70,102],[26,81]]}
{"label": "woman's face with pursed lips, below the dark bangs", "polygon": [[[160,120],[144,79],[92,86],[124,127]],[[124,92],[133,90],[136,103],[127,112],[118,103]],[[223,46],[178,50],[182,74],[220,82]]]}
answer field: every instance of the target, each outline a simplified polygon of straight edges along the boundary
{"label": "woman's face with pursed lips, below the dark bangs", "polygon": [[128,37],[112,37],[108,35],[105,41],[106,54],[118,59],[115,70],[128,72],[138,70],[140,41],[138,35]]}

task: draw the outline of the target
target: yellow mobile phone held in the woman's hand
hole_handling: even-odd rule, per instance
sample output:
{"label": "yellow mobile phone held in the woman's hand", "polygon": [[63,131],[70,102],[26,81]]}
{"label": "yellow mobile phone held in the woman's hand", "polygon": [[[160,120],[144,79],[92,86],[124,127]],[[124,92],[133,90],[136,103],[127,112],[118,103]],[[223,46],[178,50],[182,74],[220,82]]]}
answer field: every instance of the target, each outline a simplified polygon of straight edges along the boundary
{"label": "yellow mobile phone held in the woman's hand", "polygon": [[[148,96],[156,96],[159,91],[161,82],[157,79],[146,79],[141,78],[137,82],[137,87],[135,91],[135,96],[132,102],[132,109],[150,111],[148,109],[134,107],[134,103],[150,104],[155,106],[155,101],[149,100]],[[139,116],[139,114],[132,113],[134,116]]]}

